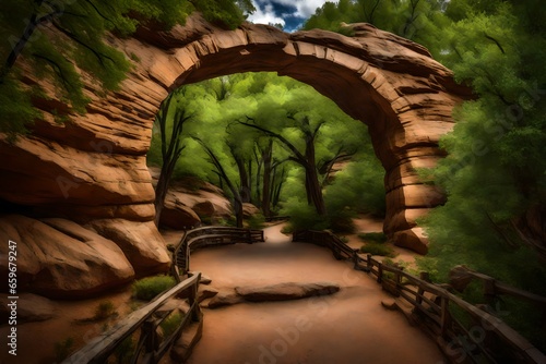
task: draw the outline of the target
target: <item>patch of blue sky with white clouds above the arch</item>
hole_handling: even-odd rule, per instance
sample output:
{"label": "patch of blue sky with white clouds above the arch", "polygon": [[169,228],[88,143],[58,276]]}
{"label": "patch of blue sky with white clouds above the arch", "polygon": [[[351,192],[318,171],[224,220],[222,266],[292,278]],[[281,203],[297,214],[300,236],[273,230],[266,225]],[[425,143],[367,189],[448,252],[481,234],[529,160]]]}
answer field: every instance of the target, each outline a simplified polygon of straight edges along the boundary
{"label": "patch of blue sky with white clouds above the arch", "polygon": [[337,2],[337,0],[252,0],[256,12],[248,20],[256,24],[281,23],[285,32],[294,32],[327,1]]}

